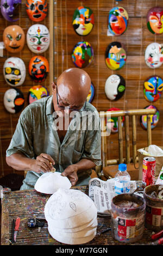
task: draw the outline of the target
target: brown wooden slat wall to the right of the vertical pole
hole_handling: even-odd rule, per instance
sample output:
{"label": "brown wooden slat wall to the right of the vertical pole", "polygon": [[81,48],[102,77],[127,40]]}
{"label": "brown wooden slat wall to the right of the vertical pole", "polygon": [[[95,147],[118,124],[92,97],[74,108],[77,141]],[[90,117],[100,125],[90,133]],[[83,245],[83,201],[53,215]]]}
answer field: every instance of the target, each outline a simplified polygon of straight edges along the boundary
{"label": "brown wooden slat wall to the right of the vertical pole", "polygon": [[[74,10],[81,5],[90,7],[95,14],[95,26],[86,36],[79,36],[74,32],[72,17]],[[121,36],[107,36],[109,10],[116,5],[124,7],[129,14],[127,31]],[[90,75],[95,85],[96,95],[92,105],[98,111],[106,111],[111,107],[121,109],[138,109],[149,105],[143,96],[143,81],[150,75],[163,78],[163,65],[158,69],[150,69],[145,63],[145,49],[151,42],[163,43],[162,35],[153,35],[148,31],[146,24],[147,11],[159,5],[163,7],[163,0],[54,0],[54,76],[55,79],[67,68],[74,67],[71,58],[73,46],[78,41],[89,41],[95,52],[95,57],[90,66],[84,70]],[[105,64],[106,46],[112,41],[120,41],[127,49],[126,65],[117,71],[108,69]],[[105,81],[111,74],[122,75],[126,79],[126,92],[118,101],[110,101],[104,93]],[[152,130],[152,143],[162,145],[163,142],[163,96],[154,104],[160,111],[158,125]],[[140,126],[136,118],[137,149],[147,146],[147,132]],[[123,129],[124,130],[124,129]],[[124,131],[123,131],[124,138]],[[131,130],[130,130],[131,139]],[[108,139],[108,158],[118,158],[118,135],[111,134]],[[124,144],[124,143],[123,143]],[[131,150],[131,148],[130,148]],[[132,155],[132,154],[131,154]],[[124,148],[125,156],[125,148]]]}

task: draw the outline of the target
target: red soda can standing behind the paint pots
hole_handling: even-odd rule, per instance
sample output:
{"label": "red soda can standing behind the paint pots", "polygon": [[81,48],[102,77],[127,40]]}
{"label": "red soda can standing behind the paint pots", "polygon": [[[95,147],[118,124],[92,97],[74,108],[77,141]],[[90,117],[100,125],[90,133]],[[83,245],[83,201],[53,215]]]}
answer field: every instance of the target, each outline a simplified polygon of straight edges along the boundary
{"label": "red soda can standing behind the paint pots", "polygon": [[155,158],[146,156],[142,166],[142,187],[154,185],[155,182]]}

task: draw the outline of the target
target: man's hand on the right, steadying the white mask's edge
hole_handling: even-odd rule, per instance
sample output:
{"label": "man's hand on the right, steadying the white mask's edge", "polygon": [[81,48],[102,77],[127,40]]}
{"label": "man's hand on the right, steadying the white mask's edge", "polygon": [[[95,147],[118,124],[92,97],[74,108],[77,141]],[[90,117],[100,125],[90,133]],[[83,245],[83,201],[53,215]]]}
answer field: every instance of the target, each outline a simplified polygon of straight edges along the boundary
{"label": "man's hand on the right, steadying the white mask's edge", "polygon": [[75,186],[77,181],[78,181],[78,168],[76,166],[76,164],[72,164],[71,166],[68,166],[64,172],[61,173],[62,176],[66,176],[70,182],[72,186]]}

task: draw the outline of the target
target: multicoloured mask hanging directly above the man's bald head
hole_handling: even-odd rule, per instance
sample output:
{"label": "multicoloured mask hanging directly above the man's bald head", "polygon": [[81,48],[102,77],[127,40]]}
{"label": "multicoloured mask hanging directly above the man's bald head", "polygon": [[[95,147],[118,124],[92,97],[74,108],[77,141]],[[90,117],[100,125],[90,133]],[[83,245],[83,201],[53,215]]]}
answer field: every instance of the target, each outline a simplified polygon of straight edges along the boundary
{"label": "multicoloured mask hanging directly above the man's bald head", "polygon": [[72,51],[72,61],[78,68],[85,68],[92,62],[93,55],[93,48],[89,42],[78,42]]}

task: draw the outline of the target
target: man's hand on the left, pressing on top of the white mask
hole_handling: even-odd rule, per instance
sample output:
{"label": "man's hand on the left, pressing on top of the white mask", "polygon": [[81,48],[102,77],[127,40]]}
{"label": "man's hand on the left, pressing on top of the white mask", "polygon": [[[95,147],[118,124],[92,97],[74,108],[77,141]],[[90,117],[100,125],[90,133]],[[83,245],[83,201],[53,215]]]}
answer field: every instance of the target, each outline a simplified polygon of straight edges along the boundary
{"label": "man's hand on the left, pressing on top of the white mask", "polygon": [[52,157],[48,154],[41,153],[39,156],[36,157],[35,160],[32,161],[31,170],[34,170],[36,173],[40,172],[51,172],[53,169],[52,164],[54,165],[55,162]]}

